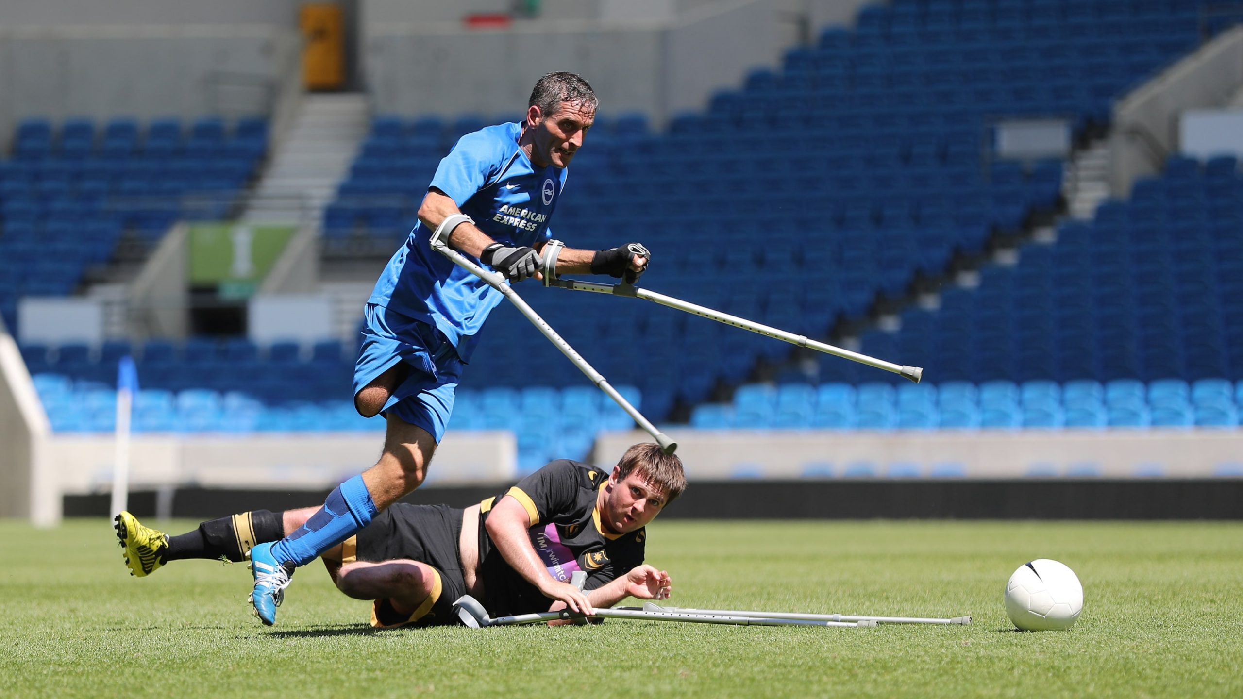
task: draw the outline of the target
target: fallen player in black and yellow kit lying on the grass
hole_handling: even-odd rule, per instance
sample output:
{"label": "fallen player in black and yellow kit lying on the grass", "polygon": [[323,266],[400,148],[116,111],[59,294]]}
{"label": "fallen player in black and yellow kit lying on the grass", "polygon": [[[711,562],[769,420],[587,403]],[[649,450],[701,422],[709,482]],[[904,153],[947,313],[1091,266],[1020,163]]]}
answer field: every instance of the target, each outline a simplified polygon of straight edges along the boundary
{"label": "fallen player in black and yellow kit lying on the grass", "polygon": [[[645,527],[685,488],[677,456],[635,444],[612,471],[556,460],[466,509],[398,502],[323,561],[338,590],[374,601],[375,627],[459,623],[452,603],[462,595],[482,601],[492,616],[556,611],[564,603],[549,607],[549,592],[576,571],[588,576],[588,606],[574,611],[590,614],[626,597],[669,597],[669,573],[643,562]],[[242,561],[318,509],[255,510],[179,536],[122,512],[117,536],[131,573],[143,577],[169,561]]]}

